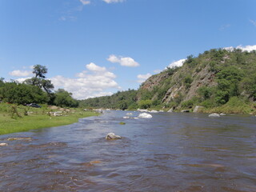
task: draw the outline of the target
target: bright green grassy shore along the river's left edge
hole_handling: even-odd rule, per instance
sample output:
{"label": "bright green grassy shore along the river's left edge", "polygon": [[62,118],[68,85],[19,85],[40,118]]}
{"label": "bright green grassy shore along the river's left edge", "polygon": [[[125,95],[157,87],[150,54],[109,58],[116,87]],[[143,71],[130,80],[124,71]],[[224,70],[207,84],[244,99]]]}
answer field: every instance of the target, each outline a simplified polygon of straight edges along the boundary
{"label": "bright green grassy shore along the river's left edge", "polygon": [[[17,113],[19,115],[15,114],[13,117],[9,109],[0,111],[0,135],[38,130],[53,126],[66,126],[78,122],[80,118],[98,115],[98,113],[93,111],[72,109],[68,112],[63,112],[61,115],[54,116],[50,114],[54,112],[47,111],[47,108],[43,107],[42,109],[30,108],[28,114],[21,115],[24,109],[25,107],[20,106]],[[60,111],[57,112],[60,113]]]}

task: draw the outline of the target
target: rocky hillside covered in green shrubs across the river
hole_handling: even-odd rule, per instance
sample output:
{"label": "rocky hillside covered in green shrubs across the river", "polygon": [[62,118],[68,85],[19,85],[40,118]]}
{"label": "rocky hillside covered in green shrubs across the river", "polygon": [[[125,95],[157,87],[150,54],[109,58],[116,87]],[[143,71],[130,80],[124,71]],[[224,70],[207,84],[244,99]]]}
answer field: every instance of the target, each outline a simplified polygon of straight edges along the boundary
{"label": "rocky hillside covered in green shrubs across the river", "polygon": [[190,55],[182,67],[167,68],[138,90],[79,102],[82,107],[155,108],[255,114],[256,51],[213,49]]}

